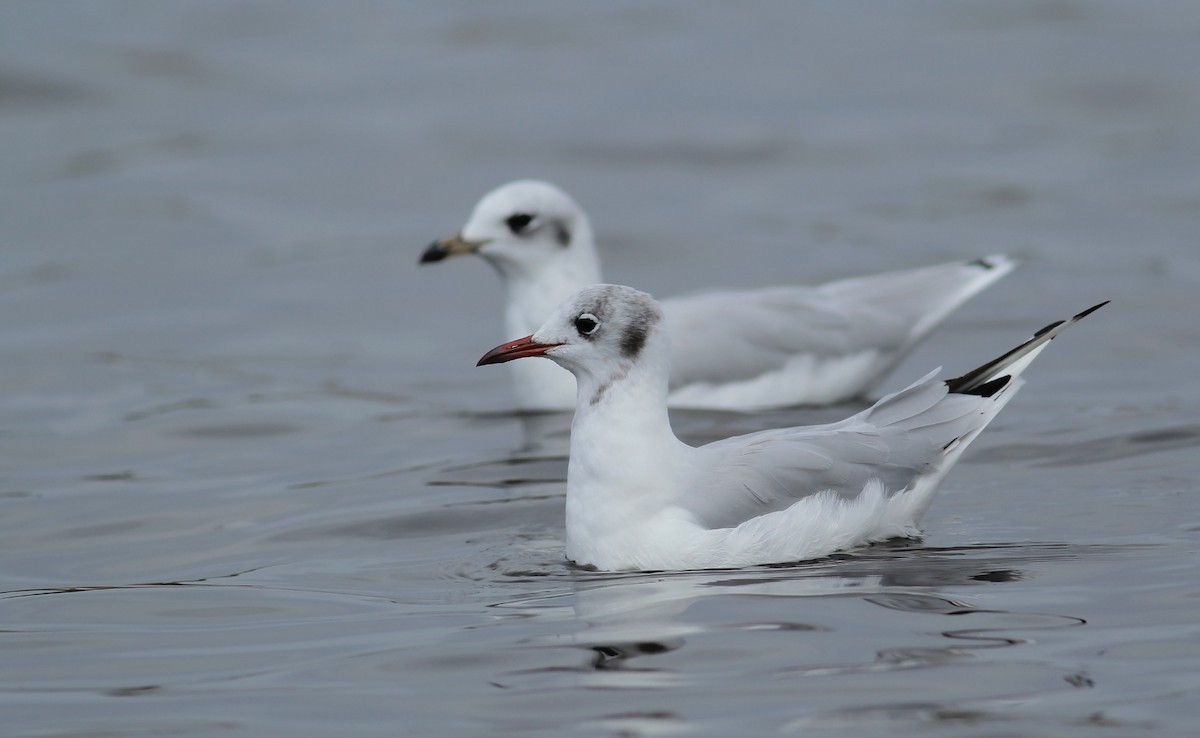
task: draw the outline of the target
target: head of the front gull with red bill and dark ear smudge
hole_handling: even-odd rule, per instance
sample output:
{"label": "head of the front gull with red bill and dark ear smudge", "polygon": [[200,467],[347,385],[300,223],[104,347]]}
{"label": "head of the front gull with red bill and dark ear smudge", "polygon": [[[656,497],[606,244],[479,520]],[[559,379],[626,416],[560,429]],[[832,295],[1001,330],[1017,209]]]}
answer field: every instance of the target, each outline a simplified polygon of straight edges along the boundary
{"label": "head of the front gull with red bill and dark ear smudge", "polygon": [[[478,366],[546,356],[580,380],[607,382],[666,355],[662,308],[650,295],[619,284],[594,284],[558,306],[533,335],[497,346]],[[664,384],[666,382],[666,370]]]}

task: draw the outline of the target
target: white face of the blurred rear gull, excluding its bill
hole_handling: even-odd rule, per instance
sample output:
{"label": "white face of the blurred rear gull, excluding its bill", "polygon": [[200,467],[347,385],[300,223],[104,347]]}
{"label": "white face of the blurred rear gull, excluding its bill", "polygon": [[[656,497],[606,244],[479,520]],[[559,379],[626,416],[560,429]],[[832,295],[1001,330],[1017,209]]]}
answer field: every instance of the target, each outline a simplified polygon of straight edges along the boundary
{"label": "white face of the blurred rear gull, excluding its bill", "polygon": [[463,241],[502,272],[536,274],[546,264],[570,258],[582,211],[553,185],[533,180],[493,190],[475,205],[463,227]]}

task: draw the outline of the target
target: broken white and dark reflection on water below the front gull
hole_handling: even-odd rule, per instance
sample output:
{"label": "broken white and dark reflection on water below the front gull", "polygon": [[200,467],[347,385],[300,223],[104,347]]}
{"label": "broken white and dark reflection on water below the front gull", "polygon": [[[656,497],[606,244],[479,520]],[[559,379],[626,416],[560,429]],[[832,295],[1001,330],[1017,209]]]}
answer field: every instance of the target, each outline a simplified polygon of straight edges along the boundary
{"label": "broken white and dark reflection on water below the front gull", "polygon": [[[607,672],[596,686],[676,688],[696,678],[695,668],[686,664],[707,661],[702,654],[690,653],[692,649],[722,648],[721,644],[733,640],[731,634],[761,637],[755,634],[773,632],[788,640],[800,638],[794,648],[770,658],[736,652],[736,659],[763,661],[755,668],[776,676],[875,673],[973,659],[983,650],[1027,646],[1036,642],[1040,631],[1078,628],[1087,620],[1069,612],[1015,612],[979,606],[972,604],[976,595],[966,594],[971,588],[1019,582],[1028,565],[1094,559],[1124,551],[1120,546],[1064,544],[937,550],[910,542],[902,550],[880,547],[842,554],[838,560],[786,568],[670,574],[547,572],[570,584],[570,593],[520,598],[494,607],[505,613],[569,623],[568,634],[536,636],[527,643],[553,649],[569,643],[572,649],[584,652],[584,658],[575,660],[574,666],[556,664],[510,673],[505,684],[541,679],[547,671],[596,670]],[[940,592],[944,589],[961,590],[964,595],[946,595]],[[767,601],[772,604],[768,606]],[[878,635],[890,629],[888,619],[870,617],[863,605],[901,616],[937,618],[904,626],[896,634],[900,640],[910,641],[911,628],[916,628],[930,634],[924,638],[930,642],[919,647],[880,644],[870,654],[862,654],[869,658],[859,661],[830,658],[828,649],[805,655],[805,638],[817,638],[812,642],[863,638],[856,625],[860,622],[878,631],[865,636],[866,642],[877,642]],[[696,617],[694,613],[698,611],[704,614]],[[748,620],[746,612],[793,617]],[[628,682],[612,673],[630,670]],[[691,677],[684,672],[691,672]]]}

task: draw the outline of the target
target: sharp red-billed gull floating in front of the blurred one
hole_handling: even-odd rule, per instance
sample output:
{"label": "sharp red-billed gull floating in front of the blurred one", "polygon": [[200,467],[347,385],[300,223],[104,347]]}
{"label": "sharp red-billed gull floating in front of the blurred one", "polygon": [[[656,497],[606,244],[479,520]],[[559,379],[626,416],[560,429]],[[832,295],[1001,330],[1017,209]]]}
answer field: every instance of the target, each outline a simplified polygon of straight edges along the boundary
{"label": "sharp red-billed gull floating in front of the blurred one", "polygon": [[749,566],[917,535],[942,478],[1016,395],[1021,372],[1100,305],[961,377],[935,370],[846,420],[700,448],[667,419],[662,308],[630,287],[588,287],[479,364],[546,356],[575,374],[568,558],[608,571]]}

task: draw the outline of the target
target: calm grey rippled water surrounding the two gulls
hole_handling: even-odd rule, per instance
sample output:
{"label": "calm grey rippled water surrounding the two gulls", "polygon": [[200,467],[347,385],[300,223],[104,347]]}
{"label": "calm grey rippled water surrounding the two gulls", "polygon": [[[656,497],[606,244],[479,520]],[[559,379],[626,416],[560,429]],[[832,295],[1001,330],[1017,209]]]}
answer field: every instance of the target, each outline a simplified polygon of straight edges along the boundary
{"label": "calm grey rippled water surrounding the two gulls", "polygon": [[[1194,734],[1198,68],[1192,0],[6,2],[0,733]],[[923,541],[578,572],[415,264],[518,176],[659,294],[1022,260],[884,389],[1112,305]]]}

